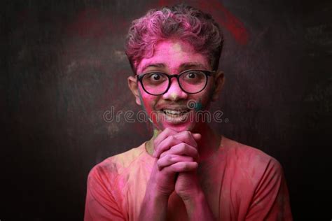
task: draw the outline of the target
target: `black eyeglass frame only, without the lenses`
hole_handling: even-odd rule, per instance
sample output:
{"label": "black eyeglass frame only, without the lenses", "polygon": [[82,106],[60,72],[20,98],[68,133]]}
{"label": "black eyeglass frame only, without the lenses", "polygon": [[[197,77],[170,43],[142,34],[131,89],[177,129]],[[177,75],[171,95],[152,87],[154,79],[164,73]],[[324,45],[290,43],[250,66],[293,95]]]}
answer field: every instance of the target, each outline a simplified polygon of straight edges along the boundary
{"label": "black eyeglass frame only, without the lenses", "polygon": [[[209,80],[209,76],[212,76],[213,73],[215,73],[216,71],[207,71],[207,70],[195,70],[195,69],[189,69],[189,70],[186,70],[186,71],[182,71],[181,73],[179,74],[172,74],[172,75],[168,75],[167,73],[165,72],[162,72],[162,71],[149,71],[149,72],[146,72],[146,73],[143,73],[143,74],[140,74],[140,75],[137,75],[137,80],[139,80],[139,82],[141,83],[141,87],[143,87],[143,90],[150,94],[150,95],[154,95],[154,96],[159,96],[159,95],[162,95],[162,94],[165,94],[171,87],[171,79],[172,78],[177,78],[177,83],[179,84],[181,90],[183,90],[184,92],[186,92],[187,94],[198,94],[199,92],[201,92],[202,90],[205,90],[205,87],[207,87],[207,80],[205,80],[205,85],[204,87],[202,87],[202,90],[198,91],[198,92],[195,92],[195,93],[191,93],[191,92],[187,92],[186,90],[184,90],[184,88],[181,87],[181,84],[180,84],[180,76],[182,76],[184,73],[188,73],[190,71],[200,71],[202,73],[205,74],[207,80]],[[165,90],[165,92],[162,92],[161,94],[151,94],[150,92],[148,92],[145,88],[144,88],[144,84],[143,84],[143,78],[144,76],[146,76],[146,74],[149,74],[149,73],[163,73],[165,74],[165,76],[167,76],[168,78],[168,86],[167,86],[167,89]]]}

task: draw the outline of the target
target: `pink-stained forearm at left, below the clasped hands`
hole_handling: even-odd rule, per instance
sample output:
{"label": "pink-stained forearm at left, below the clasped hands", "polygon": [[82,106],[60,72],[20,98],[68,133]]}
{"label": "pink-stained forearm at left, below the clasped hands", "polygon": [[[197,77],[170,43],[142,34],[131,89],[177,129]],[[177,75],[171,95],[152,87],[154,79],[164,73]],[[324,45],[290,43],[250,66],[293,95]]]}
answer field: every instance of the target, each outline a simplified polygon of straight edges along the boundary
{"label": "pink-stained forearm at left, below the clasped hands", "polygon": [[139,220],[166,220],[168,198],[169,196],[146,190]]}

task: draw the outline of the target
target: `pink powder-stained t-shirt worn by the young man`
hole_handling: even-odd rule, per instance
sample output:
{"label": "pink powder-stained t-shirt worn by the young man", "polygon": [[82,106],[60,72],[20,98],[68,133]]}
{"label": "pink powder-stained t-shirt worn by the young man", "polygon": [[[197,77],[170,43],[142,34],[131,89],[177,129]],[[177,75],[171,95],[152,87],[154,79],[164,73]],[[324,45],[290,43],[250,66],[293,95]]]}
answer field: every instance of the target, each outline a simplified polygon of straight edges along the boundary
{"label": "pink powder-stained t-shirt worn by the young man", "polygon": [[[137,220],[154,162],[143,143],[97,164],[88,176],[85,221]],[[198,177],[217,220],[292,220],[282,166],[261,150],[223,136]],[[167,210],[167,220],[188,220],[175,192]]]}

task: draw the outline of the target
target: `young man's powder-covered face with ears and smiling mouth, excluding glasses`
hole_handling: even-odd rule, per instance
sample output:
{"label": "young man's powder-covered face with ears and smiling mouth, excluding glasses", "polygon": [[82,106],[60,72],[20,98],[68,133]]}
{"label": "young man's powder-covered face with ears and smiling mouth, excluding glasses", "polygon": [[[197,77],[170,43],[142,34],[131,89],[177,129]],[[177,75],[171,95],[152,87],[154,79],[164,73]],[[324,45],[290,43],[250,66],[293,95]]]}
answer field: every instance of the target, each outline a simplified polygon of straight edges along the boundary
{"label": "young man's powder-covered face with ears and smiling mouth, excluding glasses", "polygon": [[[161,41],[155,46],[152,57],[144,58],[137,66],[137,74],[151,71],[179,75],[188,69],[211,71],[211,66],[204,55],[195,52],[193,46],[181,40]],[[223,83],[223,74],[214,73],[208,77],[207,86],[197,94],[188,94],[181,90],[176,78],[171,78],[169,90],[158,96],[148,94],[137,78],[130,76],[128,85],[158,130],[167,127],[175,131],[193,131],[198,127],[195,112],[206,110],[209,102],[217,98]],[[195,101],[195,108],[188,106]],[[189,102],[189,103],[188,103]]]}

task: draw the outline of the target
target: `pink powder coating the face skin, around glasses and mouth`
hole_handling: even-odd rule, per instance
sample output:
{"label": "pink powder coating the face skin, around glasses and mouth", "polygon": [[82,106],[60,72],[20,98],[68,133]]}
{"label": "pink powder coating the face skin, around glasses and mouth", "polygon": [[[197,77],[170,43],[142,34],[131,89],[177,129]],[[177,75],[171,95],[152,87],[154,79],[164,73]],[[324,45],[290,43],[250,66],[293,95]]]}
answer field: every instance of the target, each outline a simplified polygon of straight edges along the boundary
{"label": "pink powder coating the face skin, around glasses and mouth", "polygon": [[[158,43],[153,56],[142,59],[137,72],[142,74],[148,71],[161,71],[167,74],[179,74],[186,69],[211,70],[211,67],[207,58],[200,53],[196,53],[192,45],[173,39]],[[140,84],[139,91],[142,105],[155,127],[160,130],[170,127],[176,131],[184,131],[192,130],[197,122],[191,120],[189,117],[184,122],[175,122],[165,117],[161,110],[174,106],[186,107],[189,100],[200,101],[202,106],[207,106],[210,100],[209,94],[211,94],[212,85],[212,80],[209,80],[207,87],[202,92],[187,94],[181,90],[177,80],[172,78],[170,89],[160,96],[146,93]]]}

